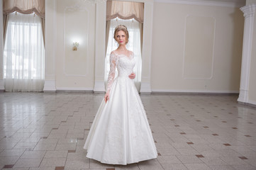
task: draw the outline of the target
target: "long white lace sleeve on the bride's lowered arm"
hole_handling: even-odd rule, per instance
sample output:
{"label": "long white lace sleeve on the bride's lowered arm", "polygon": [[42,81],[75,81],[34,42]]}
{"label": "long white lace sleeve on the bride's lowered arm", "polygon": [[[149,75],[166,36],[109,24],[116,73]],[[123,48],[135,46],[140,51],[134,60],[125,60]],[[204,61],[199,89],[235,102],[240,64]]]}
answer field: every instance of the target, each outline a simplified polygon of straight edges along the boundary
{"label": "long white lace sleeve on the bride's lowered arm", "polygon": [[113,53],[111,53],[110,55],[109,64],[110,64],[110,70],[108,74],[106,93],[110,91],[113,84],[113,79],[115,79],[115,75],[116,75],[116,55]]}

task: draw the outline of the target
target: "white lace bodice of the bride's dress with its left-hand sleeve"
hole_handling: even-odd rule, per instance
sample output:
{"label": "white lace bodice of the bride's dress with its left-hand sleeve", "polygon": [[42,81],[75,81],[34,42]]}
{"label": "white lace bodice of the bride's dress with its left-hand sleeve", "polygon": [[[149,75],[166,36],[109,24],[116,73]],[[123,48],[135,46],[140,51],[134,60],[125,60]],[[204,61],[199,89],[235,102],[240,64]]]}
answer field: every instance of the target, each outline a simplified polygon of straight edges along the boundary
{"label": "white lace bodice of the bride's dress with its left-hand sleeve", "polygon": [[116,52],[111,52],[110,55],[110,71],[108,74],[108,82],[106,92],[109,92],[116,75],[116,67],[118,70],[118,77],[127,77],[133,73],[133,67],[135,66],[135,60],[133,52],[129,56],[119,55]]}

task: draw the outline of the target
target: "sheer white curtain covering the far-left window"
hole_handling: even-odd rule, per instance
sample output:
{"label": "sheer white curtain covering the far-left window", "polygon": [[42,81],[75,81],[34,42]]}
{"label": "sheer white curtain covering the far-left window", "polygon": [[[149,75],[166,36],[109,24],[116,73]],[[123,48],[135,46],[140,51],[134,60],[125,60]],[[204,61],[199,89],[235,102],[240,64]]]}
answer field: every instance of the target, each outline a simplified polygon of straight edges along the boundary
{"label": "sheer white curtain covering the far-left window", "polygon": [[10,13],[4,45],[6,91],[43,91],[45,48],[35,14]]}

